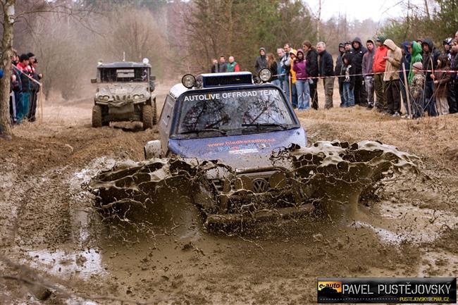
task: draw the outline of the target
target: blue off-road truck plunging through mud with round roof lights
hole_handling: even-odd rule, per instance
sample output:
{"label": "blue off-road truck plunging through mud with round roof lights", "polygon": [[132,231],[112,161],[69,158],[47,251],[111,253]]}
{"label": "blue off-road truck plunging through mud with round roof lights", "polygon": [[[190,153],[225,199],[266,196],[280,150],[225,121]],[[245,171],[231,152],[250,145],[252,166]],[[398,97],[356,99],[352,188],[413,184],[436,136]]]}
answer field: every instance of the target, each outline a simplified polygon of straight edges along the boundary
{"label": "blue off-road truck plunging through mud with round roof lights", "polygon": [[206,223],[232,223],[311,210],[293,187],[287,161],[273,152],[306,147],[307,134],[284,92],[268,83],[271,73],[185,75],[166,97],[159,140],[144,147],[145,158],[181,156],[228,166],[206,173],[192,194]]}

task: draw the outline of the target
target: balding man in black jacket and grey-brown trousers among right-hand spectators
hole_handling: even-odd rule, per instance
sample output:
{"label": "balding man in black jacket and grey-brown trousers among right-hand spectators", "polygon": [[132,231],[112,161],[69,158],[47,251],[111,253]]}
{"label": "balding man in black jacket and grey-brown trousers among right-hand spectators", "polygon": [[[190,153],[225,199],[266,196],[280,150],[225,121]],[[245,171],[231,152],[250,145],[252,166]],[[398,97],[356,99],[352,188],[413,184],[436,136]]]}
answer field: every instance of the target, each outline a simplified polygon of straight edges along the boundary
{"label": "balding man in black jacket and grey-brown trousers among right-hand spectators", "polygon": [[316,44],[318,51],[318,72],[320,77],[323,77],[324,94],[326,96],[326,104],[324,108],[333,108],[333,92],[334,92],[334,62],[333,56],[326,51],[326,44],[318,42]]}

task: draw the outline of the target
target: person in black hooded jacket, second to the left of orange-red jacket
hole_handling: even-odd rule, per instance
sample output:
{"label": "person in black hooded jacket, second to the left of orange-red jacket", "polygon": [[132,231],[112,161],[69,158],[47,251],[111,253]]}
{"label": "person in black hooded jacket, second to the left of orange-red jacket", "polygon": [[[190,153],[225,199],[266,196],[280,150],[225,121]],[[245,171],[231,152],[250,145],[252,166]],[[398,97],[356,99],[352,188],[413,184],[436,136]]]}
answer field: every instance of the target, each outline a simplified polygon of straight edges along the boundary
{"label": "person in black hooded jacket, second to the left of orange-red jacket", "polygon": [[354,77],[354,104],[359,106],[367,106],[367,94],[366,89],[363,85],[363,56],[366,54],[367,49],[362,45],[361,39],[355,37],[352,41],[352,55],[353,55],[353,66],[355,74]]}

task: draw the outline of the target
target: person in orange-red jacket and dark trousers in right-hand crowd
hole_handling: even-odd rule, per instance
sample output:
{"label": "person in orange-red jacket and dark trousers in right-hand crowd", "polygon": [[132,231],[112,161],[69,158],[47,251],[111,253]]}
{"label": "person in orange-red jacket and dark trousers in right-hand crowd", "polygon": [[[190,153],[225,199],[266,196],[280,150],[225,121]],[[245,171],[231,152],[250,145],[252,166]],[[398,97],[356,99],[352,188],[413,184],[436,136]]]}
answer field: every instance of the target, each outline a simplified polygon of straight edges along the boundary
{"label": "person in orange-red jacket and dark trousers in right-hand crowd", "polygon": [[388,48],[383,45],[385,42],[385,37],[378,36],[376,40],[377,49],[376,55],[373,57],[373,78],[374,78],[374,87],[376,91],[376,110],[378,112],[385,111],[387,109],[386,99],[385,99],[385,82],[383,81],[383,73],[385,72],[385,63],[388,53]]}

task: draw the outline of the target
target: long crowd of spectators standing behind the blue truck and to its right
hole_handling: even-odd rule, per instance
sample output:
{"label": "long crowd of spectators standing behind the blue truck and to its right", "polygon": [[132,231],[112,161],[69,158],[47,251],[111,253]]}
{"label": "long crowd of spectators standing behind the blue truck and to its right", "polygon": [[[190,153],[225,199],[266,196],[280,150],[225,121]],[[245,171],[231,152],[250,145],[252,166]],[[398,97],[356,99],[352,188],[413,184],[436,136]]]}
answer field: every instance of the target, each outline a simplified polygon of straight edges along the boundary
{"label": "long crowd of spectators standing behind the blue truck and to its right", "polygon": [[[326,50],[325,42],[316,46],[308,40],[302,49],[286,43],[276,55],[259,49],[254,70],[268,68],[271,82],[285,92],[298,110],[318,109],[318,82],[323,83],[324,108],[333,107],[335,78],[341,107],[375,108],[384,115],[419,118],[457,113],[458,32],[443,41],[438,49],[431,39],[395,44],[382,35],[359,37],[341,42],[338,56]],[[212,73],[237,72],[240,66],[233,56],[213,59]],[[402,105],[404,113],[402,113]]]}

